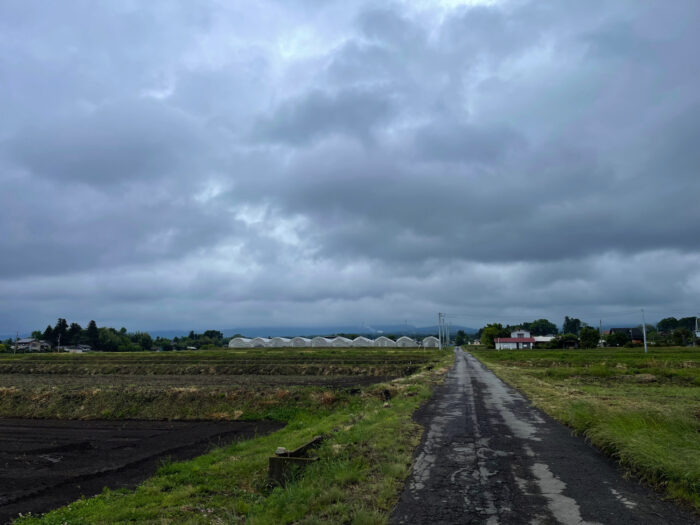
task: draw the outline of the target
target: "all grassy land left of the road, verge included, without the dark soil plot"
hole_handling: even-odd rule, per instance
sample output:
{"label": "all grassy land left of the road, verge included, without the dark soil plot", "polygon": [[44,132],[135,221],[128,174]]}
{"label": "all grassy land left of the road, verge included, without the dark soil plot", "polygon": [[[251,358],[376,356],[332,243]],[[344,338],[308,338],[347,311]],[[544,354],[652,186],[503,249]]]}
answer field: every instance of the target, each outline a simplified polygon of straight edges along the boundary
{"label": "all grassy land left of the road, verge included, without the dark soil plot", "polygon": [[[0,388],[4,417],[266,418],[288,423],[270,436],[166,464],[134,491],[105,490],[18,523],[385,523],[420,440],[421,429],[411,416],[452,359],[451,352],[403,349],[3,356],[2,377],[14,377],[17,383]],[[255,367],[261,379],[274,373],[274,381],[258,383],[250,373],[245,381],[236,380],[241,367]],[[399,378],[353,387],[284,384],[284,377],[333,378],[338,372],[358,381]],[[110,384],[105,379],[109,373],[119,381]],[[68,383],[52,382],[57,374]],[[99,380],[86,386],[91,374]],[[163,383],[167,375],[182,383]],[[207,383],[212,377],[232,382]],[[125,386],[124,378],[134,382]],[[156,378],[160,382],[149,383]],[[318,449],[320,461],[285,488],[268,488],[272,452],[320,434],[327,436]]]}

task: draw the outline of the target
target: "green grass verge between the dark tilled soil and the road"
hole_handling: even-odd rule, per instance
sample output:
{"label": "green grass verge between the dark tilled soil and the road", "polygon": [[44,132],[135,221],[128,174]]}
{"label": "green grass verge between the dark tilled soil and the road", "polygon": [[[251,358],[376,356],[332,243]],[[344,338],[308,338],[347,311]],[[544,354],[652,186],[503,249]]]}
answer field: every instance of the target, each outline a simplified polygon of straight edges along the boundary
{"label": "green grass verge between the dark tilled soil and the road", "polygon": [[[304,387],[308,398],[285,398],[269,407],[287,407],[290,417],[272,435],[165,464],[134,491],[106,489],[17,523],[386,523],[421,436],[411,416],[452,359],[451,353],[442,354],[437,366],[366,387],[359,395]],[[385,406],[387,390],[391,399]],[[285,488],[269,490],[272,452],[319,434],[328,436],[317,451],[320,461]]]}

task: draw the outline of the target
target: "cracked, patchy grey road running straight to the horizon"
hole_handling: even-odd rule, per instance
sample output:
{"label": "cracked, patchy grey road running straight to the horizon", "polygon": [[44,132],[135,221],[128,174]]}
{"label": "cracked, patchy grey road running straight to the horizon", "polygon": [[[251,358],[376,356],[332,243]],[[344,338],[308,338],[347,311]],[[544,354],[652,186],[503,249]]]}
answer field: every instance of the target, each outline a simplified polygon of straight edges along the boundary
{"label": "cracked, patchy grey road running straight to the horizon", "polygon": [[458,349],[393,524],[696,524]]}

